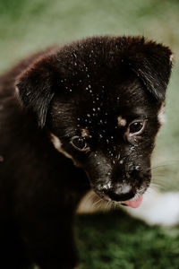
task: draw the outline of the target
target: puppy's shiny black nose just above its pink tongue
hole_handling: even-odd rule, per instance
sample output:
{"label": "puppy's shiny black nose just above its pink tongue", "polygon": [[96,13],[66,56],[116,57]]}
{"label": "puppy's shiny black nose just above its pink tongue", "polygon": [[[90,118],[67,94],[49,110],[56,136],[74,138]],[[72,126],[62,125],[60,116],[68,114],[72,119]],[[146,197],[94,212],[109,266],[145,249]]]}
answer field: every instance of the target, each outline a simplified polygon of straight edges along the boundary
{"label": "puppy's shiny black nose just above its pink tongue", "polygon": [[135,195],[132,191],[132,187],[129,185],[117,185],[115,187],[106,189],[104,192],[108,197],[116,202],[128,201]]}

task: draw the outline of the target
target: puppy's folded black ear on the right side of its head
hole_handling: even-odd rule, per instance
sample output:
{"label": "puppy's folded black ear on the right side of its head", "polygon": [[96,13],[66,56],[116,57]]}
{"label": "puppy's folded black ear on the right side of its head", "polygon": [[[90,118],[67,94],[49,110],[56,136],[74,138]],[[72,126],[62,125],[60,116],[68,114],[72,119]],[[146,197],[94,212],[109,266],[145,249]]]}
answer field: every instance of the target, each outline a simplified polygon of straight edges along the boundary
{"label": "puppy's folded black ear on the right side of its head", "polygon": [[128,56],[128,65],[153,96],[164,101],[172,69],[172,52],[169,48],[155,42],[145,42],[144,39],[140,49],[136,50],[133,49]]}

